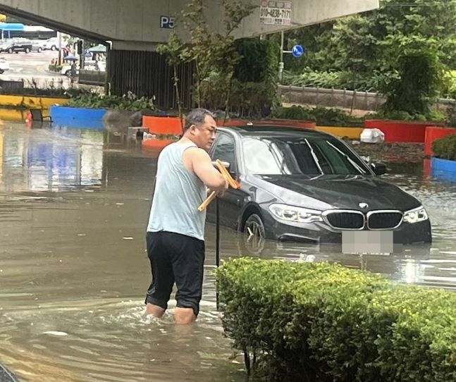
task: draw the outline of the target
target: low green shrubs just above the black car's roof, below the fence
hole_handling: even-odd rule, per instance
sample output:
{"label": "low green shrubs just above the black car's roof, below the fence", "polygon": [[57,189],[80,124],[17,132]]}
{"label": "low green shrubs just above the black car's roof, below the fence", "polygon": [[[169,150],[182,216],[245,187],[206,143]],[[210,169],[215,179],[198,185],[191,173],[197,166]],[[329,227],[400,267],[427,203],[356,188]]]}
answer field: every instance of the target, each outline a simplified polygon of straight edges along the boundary
{"label": "low green shrubs just above the black car's roof, below the fence", "polygon": [[312,121],[320,126],[362,126],[364,122],[363,118],[350,116],[343,110],[324,107],[314,109],[304,106],[282,107],[274,110],[272,117]]}

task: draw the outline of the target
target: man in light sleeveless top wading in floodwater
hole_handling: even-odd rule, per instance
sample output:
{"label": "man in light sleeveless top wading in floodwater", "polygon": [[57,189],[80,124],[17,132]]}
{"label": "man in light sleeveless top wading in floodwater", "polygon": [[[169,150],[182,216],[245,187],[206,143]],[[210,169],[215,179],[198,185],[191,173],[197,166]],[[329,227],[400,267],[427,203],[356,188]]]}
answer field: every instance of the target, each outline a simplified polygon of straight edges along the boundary
{"label": "man in light sleeveless top wading in floodwater", "polygon": [[146,314],[163,316],[175,283],[177,324],[197,319],[202,296],[206,211],[199,212],[198,206],[206,199],[207,187],[218,195],[228,188],[207,154],[215,133],[209,111],[190,111],[183,137],[165,147],[157,165],[146,236],[152,269]]}

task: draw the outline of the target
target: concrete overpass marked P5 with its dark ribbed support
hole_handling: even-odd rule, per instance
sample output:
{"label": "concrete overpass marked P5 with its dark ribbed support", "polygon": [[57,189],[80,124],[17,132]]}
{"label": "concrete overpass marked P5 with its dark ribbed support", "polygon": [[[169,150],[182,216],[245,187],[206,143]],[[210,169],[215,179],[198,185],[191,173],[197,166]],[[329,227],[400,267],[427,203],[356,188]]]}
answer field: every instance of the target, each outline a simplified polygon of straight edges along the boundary
{"label": "concrete overpass marked P5 with its dark ribbed support", "polygon": [[[249,0],[245,0],[246,2]],[[0,13],[52,27],[71,35],[111,42],[108,78],[114,94],[173,97],[171,72],[154,51],[172,30],[182,39],[188,33],[180,11],[190,0],[0,0]],[[378,0],[250,0],[257,6],[235,30],[235,37],[254,37],[279,30],[321,23],[378,8]],[[221,30],[223,8],[204,0],[207,25]],[[189,68],[181,68],[183,92],[190,85]],[[169,100],[171,104],[173,100]],[[187,100],[187,104],[188,104]],[[162,106],[169,106],[166,102]]]}

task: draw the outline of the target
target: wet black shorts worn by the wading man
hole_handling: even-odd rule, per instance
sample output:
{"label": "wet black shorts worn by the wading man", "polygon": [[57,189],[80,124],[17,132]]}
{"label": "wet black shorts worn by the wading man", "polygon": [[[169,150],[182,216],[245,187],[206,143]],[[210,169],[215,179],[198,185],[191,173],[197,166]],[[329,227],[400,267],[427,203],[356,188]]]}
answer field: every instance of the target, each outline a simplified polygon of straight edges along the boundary
{"label": "wet black shorts worn by the wading man", "polygon": [[199,313],[204,270],[204,241],[180,233],[159,231],[146,235],[147,256],[152,269],[152,283],[146,304],[168,308],[173,285],[176,306]]}

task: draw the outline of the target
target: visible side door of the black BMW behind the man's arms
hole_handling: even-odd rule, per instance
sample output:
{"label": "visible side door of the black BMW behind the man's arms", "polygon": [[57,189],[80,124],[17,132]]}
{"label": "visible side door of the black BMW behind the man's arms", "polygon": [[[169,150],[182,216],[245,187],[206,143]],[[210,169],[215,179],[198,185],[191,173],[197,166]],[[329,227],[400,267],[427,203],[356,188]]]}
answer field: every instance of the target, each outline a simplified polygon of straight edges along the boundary
{"label": "visible side door of the black BMW behind the man's arms", "polygon": [[[235,138],[228,133],[217,133],[214,147],[209,153],[212,161],[220,159],[223,162],[230,164],[229,171],[232,174],[238,173],[238,158],[236,155]],[[222,226],[237,229],[238,218],[240,215],[242,200],[245,198],[245,193],[241,190],[233,190],[229,187],[223,197],[218,198],[218,206],[220,211],[220,223]],[[207,209],[208,221],[215,221],[216,203],[209,204]]]}

